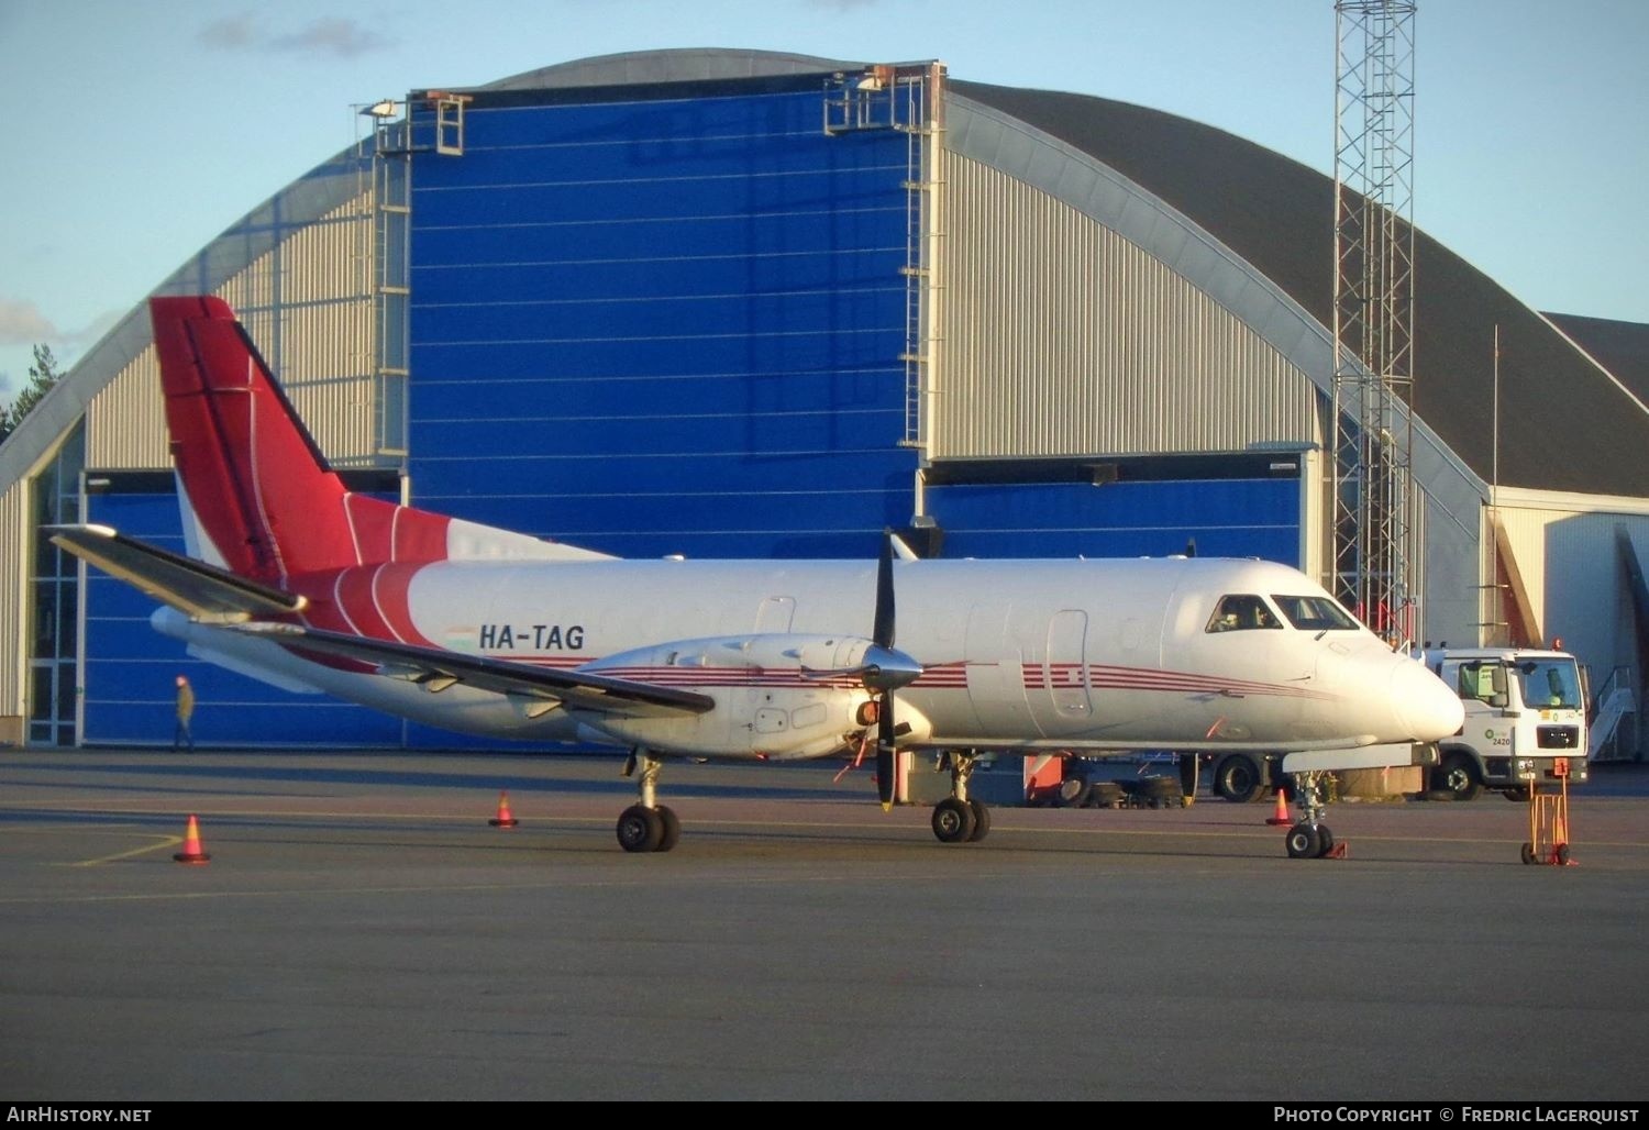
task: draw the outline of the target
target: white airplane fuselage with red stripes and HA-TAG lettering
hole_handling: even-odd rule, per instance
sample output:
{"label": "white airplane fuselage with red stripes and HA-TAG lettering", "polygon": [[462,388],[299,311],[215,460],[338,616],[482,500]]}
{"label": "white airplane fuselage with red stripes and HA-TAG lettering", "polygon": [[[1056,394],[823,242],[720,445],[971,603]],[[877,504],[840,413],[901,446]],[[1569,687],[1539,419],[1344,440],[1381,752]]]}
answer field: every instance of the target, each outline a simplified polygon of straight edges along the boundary
{"label": "white airplane fuselage with red stripes and HA-TAG lettering", "polygon": [[[922,665],[920,678],[897,696],[899,716],[912,721],[910,744],[1311,749],[1436,741],[1459,726],[1459,701],[1441,681],[1349,619],[1327,627],[1304,619],[1301,599],[1316,609],[1327,594],[1273,563],[909,561],[895,566],[894,581],[897,648]],[[655,658],[640,670],[627,666],[623,676],[714,683],[739,699],[735,716],[754,716],[763,694],[805,688],[813,675],[795,663],[706,666],[702,657],[660,645],[866,637],[876,566],[447,561],[358,566],[298,577],[294,587],[310,597],[305,619],[317,627],[514,663],[600,670],[608,657],[655,648]],[[1268,610],[1263,625],[1217,617],[1253,600]],[[358,665],[307,662],[178,617],[162,630],[447,729],[610,741],[577,713],[534,716],[519,701],[465,686],[430,694]],[[752,752],[760,756],[759,744]]]}

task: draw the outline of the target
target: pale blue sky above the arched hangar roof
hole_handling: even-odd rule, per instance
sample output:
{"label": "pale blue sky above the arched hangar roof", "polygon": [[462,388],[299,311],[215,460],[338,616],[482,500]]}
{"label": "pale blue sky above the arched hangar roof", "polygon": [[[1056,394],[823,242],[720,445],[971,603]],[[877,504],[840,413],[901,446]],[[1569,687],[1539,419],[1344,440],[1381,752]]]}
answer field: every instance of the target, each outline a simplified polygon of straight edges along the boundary
{"label": "pale blue sky above the arched hangar roof", "polygon": [[[1420,0],[1413,26],[1415,223],[1539,310],[1649,322],[1649,3]],[[350,145],[358,106],[689,46],[942,59],[1332,172],[1332,0],[0,0],[0,396]]]}

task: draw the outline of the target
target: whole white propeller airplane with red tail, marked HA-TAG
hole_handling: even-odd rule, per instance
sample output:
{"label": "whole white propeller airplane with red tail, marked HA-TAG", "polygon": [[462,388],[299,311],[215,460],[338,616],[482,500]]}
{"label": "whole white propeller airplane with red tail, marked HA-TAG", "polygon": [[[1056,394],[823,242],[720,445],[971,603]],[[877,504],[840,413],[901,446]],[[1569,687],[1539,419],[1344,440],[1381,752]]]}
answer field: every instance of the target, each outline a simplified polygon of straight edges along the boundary
{"label": "whole white propeller airplane with red tail, marked HA-TAG", "polygon": [[[666,757],[943,751],[947,843],[981,840],[975,757],[1352,751],[1461,726],[1459,698],[1265,561],[622,561],[345,490],[234,312],[153,299],[190,556],[51,539],[150,594],[191,653],[449,731],[630,751],[627,851],[668,851]],[[895,604],[897,647],[895,647]],[[1326,762],[1322,764],[1324,767]],[[1291,855],[1314,855],[1316,810]],[[1309,833],[1309,835],[1308,835]],[[1301,850],[1296,851],[1294,848]]]}

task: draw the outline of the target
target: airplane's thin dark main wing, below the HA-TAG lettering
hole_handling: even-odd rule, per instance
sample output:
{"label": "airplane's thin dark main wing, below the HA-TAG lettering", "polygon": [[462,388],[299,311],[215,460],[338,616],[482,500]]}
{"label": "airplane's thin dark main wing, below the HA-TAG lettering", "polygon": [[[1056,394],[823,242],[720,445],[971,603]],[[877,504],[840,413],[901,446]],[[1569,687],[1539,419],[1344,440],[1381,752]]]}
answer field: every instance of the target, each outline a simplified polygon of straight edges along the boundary
{"label": "airplane's thin dark main wing, below the HA-TAG lettering", "polygon": [[539,713],[566,704],[604,714],[704,714],[716,706],[716,699],[707,694],[673,686],[655,686],[584,671],[559,671],[531,663],[374,640],[297,624],[237,624],[231,627],[246,635],[272,640],[292,652],[318,652],[371,663],[379,675],[420,683],[432,691],[444,691],[453,683],[463,683],[495,694],[533,699],[541,704]]}

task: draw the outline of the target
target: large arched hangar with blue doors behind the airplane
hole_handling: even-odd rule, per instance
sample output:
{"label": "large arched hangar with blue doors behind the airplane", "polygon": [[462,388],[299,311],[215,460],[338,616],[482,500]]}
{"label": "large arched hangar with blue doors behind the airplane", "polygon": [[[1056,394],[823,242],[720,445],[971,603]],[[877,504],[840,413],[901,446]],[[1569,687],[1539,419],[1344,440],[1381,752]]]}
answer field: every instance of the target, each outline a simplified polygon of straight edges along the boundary
{"label": "large arched hangar with blue doors behind the airplane", "polygon": [[[894,526],[1332,564],[1322,173],[940,63],[731,49],[361,122],[157,290],[229,300],[358,490],[622,556],[869,559]],[[1426,637],[1641,671],[1649,327],[1416,261]],[[165,742],[178,673],[204,744],[450,744],[185,655],[36,536],[181,549],[157,386],[139,300],[0,445],[0,744]]]}

